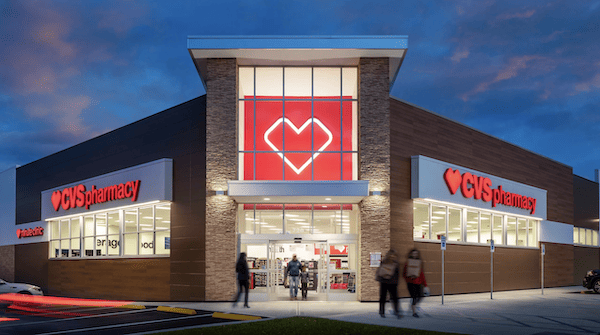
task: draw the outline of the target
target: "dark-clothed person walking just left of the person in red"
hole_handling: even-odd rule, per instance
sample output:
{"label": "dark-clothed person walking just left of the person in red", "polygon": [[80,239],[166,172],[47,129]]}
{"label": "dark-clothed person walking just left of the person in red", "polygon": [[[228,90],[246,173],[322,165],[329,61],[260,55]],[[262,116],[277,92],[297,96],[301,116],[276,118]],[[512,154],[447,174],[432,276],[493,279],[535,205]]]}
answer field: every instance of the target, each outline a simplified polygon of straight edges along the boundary
{"label": "dark-clothed person walking just left of the person in red", "polygon": [[390,300],[394,306],[394,314],[399,319],[401,317],[398,310],[398,277],[400,276],[400,265],[398,264],[398,255],[394,249],[390,249],[377,269],[375,279],[379,281],[379,315],[385,318],[385,302],[387,293],[390,293]]}

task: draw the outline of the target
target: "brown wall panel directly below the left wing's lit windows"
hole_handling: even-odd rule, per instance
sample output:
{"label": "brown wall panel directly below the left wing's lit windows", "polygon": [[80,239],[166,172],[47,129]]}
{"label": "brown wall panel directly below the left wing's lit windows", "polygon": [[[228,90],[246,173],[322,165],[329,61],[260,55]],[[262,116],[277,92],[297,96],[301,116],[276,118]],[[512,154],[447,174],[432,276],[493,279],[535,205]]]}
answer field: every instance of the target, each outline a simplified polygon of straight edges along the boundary
{"label": "brown wall panel directly below the left wing's lit windows", "polygon": [[137,301],[170,300],[169,258],[52,260],[50,295]]}

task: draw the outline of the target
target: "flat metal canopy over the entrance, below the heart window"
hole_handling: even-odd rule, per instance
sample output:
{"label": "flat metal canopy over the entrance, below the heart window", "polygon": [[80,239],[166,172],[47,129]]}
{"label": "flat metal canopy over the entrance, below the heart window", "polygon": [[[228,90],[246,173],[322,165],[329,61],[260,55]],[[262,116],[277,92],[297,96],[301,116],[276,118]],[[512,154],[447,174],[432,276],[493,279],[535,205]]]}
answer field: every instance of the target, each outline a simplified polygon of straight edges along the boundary
{"label": "flat metal canopy over the entrance, below the heart window", "polygon": [[238,203],[357,204],[369,195],[368,180],[227,182],[227,195]]}

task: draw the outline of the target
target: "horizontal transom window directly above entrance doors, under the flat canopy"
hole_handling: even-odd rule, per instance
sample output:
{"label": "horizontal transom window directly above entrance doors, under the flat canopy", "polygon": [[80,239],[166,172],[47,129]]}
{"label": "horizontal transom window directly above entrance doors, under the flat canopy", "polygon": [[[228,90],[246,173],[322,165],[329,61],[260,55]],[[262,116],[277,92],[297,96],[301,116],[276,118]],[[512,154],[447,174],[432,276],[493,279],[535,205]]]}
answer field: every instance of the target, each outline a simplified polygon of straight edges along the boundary
{"label": "horizontal transom window directly above entrance doors, under the flat canopy", "polygon": [[358,205],[240,204],[241,234],[356,234]]}

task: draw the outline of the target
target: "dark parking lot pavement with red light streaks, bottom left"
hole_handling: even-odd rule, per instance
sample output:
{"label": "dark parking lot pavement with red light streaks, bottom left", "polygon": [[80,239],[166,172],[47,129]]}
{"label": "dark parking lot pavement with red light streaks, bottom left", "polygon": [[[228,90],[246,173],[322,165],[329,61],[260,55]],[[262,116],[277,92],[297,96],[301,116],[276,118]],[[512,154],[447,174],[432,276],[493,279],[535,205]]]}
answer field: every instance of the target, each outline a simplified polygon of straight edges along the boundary
{"label": "dark parking lot pavement with red light streaks, bottom left", "polygon": [[243,315],[164,306],[69,306],[26,301],[3,303],[1,299],[0,296],[2,335],[132,334],[247,319]]}

